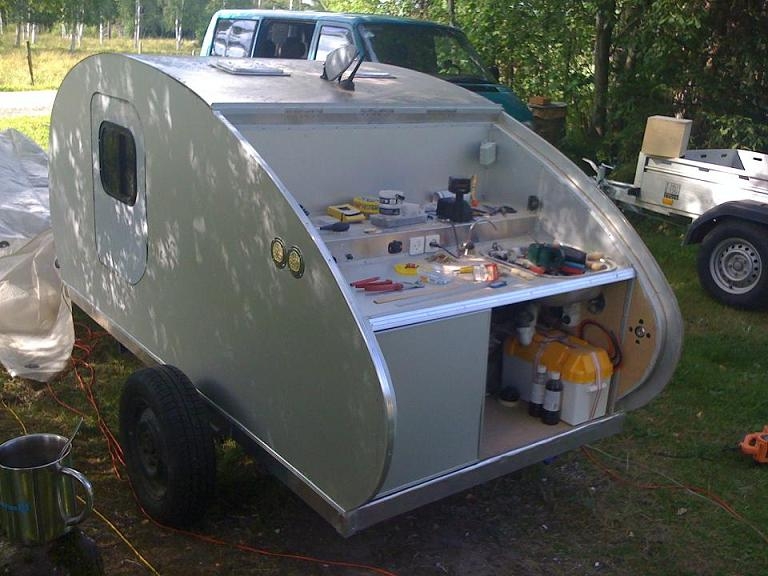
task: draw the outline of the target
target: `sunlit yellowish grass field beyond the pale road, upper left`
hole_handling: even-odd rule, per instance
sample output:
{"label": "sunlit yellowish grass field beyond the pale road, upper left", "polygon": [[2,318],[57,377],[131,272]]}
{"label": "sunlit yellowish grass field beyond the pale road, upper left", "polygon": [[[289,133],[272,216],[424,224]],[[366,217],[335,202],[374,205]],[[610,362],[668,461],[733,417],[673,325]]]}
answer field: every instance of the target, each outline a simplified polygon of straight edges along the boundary
{"label": "sunlit yellowish grass field beyond the pale road, upper left", "polygon": [[[30,78],[25,42],[14,46],[16,41],[12,29],[0,36],[0,92],[20,90],[55,90],[66,73],[80,60],[98,52],[136,52],[133,39],[113,37],[99,43],[97,37],[84,36],[80,46],[69,50],[69,39],[57,34],[39,34],[31,45],[32,72]],[[176,41],[172,38],[144,39],[142,52],[176,54]],[[179,54],[197,54],[199,46],[194,42],[182,44]]]}

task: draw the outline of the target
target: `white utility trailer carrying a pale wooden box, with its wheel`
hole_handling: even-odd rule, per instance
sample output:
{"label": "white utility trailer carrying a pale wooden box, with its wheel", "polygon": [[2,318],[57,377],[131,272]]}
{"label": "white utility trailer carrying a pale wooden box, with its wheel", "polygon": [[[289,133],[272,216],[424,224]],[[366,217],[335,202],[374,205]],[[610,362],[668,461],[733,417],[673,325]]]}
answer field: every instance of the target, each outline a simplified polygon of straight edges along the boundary
{"label": "white utility trailer carrying a pale wooden box, with its wheel", "polygon": [[715,299],[768,306],[768,154],[687,150],[684,122],[649,118],[633,184],[604,179],[602,170],[600,186],[624,206],[690,223],[685,243],[701,243],[699,280]]}

